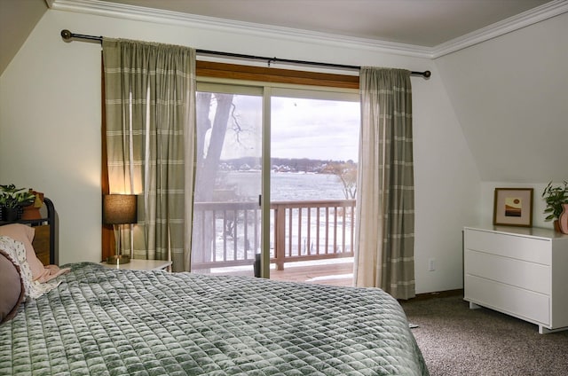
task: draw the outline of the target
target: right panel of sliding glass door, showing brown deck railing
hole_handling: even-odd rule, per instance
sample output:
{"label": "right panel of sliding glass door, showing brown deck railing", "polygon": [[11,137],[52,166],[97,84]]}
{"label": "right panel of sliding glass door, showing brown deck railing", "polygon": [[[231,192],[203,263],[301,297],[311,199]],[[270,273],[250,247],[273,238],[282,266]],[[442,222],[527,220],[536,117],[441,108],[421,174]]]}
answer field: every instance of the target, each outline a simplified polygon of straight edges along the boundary
{"label": "right panel of sliding glass door, showing brown deck railing", "polygon": [[272,91],[271,278],[352,286],[358,99]]}

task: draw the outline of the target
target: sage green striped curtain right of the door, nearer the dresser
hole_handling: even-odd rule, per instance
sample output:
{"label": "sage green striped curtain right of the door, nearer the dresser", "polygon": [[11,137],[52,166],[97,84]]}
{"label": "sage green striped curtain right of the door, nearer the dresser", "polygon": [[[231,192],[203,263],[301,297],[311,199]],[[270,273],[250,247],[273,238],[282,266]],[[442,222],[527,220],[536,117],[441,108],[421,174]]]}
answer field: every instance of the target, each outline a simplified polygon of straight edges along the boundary
{"label": "sage green striped curtain right of the door, nearer the dresser", "polygon": [[363,67],[355,223],[356,286],[414,297],[414,168],[410,72]]}

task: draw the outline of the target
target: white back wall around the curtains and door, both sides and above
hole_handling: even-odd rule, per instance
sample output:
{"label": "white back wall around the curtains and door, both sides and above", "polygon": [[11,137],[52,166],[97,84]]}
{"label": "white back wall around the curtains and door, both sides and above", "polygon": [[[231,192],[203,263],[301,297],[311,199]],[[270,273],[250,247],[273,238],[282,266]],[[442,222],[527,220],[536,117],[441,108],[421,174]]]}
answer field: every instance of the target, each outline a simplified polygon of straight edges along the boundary
{"label": "white back wall around the curtains and door, both sides and above", "polygon": [[[413,78],[418,293],[461,287],[461,226],[476,215],[477,168],[430,59],[360,45],[48,11],[0,77],[0,182],[46,193],[61,263],[100,260],[100,47],[61,29],[215,51],[432,70]],[[5,184],[3,183],[3,184]],[[437,270],[427,271],[430,258]]]}

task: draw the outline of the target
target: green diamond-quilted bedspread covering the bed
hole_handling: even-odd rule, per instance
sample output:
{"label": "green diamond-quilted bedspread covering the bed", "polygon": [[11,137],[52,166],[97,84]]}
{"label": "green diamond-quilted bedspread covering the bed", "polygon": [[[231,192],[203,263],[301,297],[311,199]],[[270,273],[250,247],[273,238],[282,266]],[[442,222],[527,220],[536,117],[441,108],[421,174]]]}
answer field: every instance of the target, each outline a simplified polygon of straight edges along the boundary
{"label": "green diamond-quilted bedspread covering the bed", "polygon": [[380,289],[65,267],[0,325],[0,374],[428,375]]}

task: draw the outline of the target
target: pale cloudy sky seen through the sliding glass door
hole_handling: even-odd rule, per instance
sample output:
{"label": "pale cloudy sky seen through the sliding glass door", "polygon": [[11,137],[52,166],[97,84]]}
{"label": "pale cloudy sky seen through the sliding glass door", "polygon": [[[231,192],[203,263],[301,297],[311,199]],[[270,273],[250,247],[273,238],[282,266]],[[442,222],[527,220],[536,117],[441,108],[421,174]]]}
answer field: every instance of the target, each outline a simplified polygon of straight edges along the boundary
{"label": "pale cloudy sky seen through the sliding glass door", "polygon": [[[235,96],[239,141],[227,131],[222,159],[260,155],[262,98]],[[273,158],[357,161],[359,103],[336,100],[272,97]]]}

